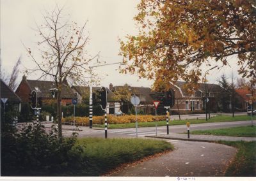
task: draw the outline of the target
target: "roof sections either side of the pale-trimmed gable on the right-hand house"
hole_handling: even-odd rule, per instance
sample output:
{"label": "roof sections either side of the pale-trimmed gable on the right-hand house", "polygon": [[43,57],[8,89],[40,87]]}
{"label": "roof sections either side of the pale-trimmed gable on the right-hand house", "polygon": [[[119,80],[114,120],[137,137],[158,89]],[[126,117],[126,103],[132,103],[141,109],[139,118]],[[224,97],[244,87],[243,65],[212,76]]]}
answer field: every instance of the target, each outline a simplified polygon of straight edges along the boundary
{"label": "roof sections either side of the pale-trimmed gable on the right-hand house", "polygon": [[[177,85],[180,90],[182,91],[182,94],[184,96],[189,96],[188,92],[186,91],[186,89],[184,88],[184,85],[186,84],[186,82],[181,82],[181,81],[177,81],[175,83],[175,85]],[[198,83],[198,91],[202,91],[205,92],[205,83]],[[221,87],[218,84],[213,84],[213,83],[206,83],[207,86],[207,91],[209,92],[220,92]]]}

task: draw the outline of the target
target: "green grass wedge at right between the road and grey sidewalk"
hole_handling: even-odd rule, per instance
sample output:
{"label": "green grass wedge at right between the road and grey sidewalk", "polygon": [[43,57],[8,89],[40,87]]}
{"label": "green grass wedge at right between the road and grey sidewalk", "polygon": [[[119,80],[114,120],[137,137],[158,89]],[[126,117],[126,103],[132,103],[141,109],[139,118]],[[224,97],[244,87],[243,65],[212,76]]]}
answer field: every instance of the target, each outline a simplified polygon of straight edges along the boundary
{"label": "green grass wedge at right between the road and grey sidewalk", "polygon": [[256,137],[256,126],[242,126],[242,127],[230,127],[230,128],[224,128],[224,129],[198,130],[198,131],[191,131],[191,134]]}

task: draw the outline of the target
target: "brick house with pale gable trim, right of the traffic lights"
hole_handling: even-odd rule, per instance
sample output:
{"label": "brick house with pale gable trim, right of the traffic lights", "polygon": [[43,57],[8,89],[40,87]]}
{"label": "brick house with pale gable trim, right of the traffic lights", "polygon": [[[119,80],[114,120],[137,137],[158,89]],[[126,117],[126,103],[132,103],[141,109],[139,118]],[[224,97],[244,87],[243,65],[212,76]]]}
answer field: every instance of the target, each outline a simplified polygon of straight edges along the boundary
{"label": "brick house with pale gable trim, right of the traffic lights", "polygon": [[[193,91],[192,94],[188,94],[186,88],[184,87],[186,82],[177,81],[177,83],[172,84],[171,88],[175,92],[175,105],[171,110],[179,110],[180,112],[193,112],[196,110],[204,110],[205,108],[205,83],[198,83],[199,87],[197,90]],[[221,91],[220,85],[216,84],[206,84],[207,87],[207,98],[209,102],[207,103],[208,108],[211,112],[217,112],[220,103],[218,101],[218,96]]]}

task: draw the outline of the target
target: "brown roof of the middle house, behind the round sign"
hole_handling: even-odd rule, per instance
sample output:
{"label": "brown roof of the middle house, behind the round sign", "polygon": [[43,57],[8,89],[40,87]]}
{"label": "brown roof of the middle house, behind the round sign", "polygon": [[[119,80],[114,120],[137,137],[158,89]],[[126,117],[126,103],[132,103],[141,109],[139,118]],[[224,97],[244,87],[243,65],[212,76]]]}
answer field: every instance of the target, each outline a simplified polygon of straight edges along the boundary
{"label": "brown roof of the middle house, behind the round sign", "polygon": [[[120,90],[124,89],[124,87],[126,87],[126,86],[114,86],[113,90],[120,91]],[[129,91],[131,91],[132,94],[136,94],[137,96],[145,95],[145,100],[146,100],[145,102],[147,102],[147,103],[152,103],[152,101],[154,101],[154,99],[150,96],[150,94],[154,94],[154,92],[152,92],[152,90],[149,87],[127,86],[127,89]]]}

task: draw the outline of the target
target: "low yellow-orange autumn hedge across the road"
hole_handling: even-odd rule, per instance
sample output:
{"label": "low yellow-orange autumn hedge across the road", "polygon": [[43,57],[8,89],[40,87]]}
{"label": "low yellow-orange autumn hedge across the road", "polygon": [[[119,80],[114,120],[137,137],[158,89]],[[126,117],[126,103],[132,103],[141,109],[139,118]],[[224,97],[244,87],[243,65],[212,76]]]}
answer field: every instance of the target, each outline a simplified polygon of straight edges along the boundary
{"label": "low yellow-orange autumn hedge across the road", "polygon": [[[122,116],[115,116],[115,115],[107,115],[108,123],[109,124],[122,124],[122,123],[133,123],[136,122],[135,115],[122,115]],[[153,121],[161,121],[165,120],[165,115],[137,115],[138,122],[153,122]],[[74,117],[65,117],[62,119],[62,122],[73,123]],[[75,122],[78,125],[89,125],[89,118],[88,117],[76,117]],[[94,116],[93,117],[93,124],[103,124],[104,123],[104,116]]]}

